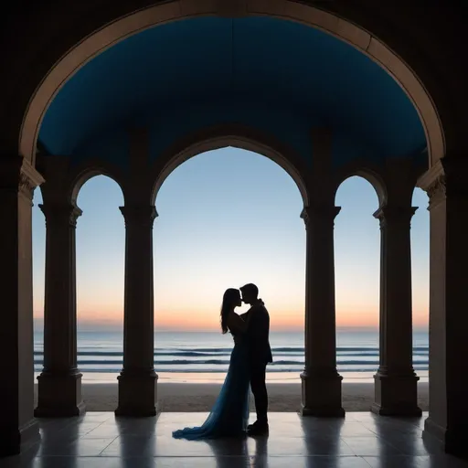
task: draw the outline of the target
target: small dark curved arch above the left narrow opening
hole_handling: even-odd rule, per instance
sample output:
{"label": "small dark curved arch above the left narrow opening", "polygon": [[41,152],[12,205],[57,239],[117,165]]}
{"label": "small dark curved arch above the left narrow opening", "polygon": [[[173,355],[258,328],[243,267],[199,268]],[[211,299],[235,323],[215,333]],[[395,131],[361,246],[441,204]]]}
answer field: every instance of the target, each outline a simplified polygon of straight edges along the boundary
{"label": "small dark curved arch above the left narrow opening", "polygon": [[115,166],[107,165],[102,161],[85,161],[81,165],[73,168],[69,181],[69,201],[73,205],[77,204],[81,187],[95,176],[106,176],[112,179],[121,189],[123,200],[125,200],[124,177]]}

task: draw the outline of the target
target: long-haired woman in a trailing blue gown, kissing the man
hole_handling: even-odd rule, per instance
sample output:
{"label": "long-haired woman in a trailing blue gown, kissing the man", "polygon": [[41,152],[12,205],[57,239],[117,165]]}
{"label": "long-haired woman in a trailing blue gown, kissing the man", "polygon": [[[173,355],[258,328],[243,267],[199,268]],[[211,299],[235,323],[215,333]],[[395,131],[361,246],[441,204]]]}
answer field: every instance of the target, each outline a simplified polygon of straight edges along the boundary
{"label": "long-haired woman in a trailing blue gown, kissing the man", "polygon": [[[221,330],[223,334],[242,335],[249,327],[249,319],[243,321],[234,309],[241,305],[237,289],[224,293],[221,306]],[[247,344],[242,340],[232,350],[229,370],[207,420],[195,428],[173,432],[176,439],[215,439],[245,434],[249,420],[249,366]]]}

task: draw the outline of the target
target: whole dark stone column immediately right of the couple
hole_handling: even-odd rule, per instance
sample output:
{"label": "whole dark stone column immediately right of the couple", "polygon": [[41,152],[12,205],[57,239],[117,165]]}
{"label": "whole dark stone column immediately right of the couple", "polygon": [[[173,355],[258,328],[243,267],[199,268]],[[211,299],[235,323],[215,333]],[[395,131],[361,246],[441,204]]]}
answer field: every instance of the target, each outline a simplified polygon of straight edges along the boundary
{"label": "whole dark stone column immediately right of the couple", "polygon": [[305,207],[303,416],[344,416],[336,371],[334,223],[340,208]]}

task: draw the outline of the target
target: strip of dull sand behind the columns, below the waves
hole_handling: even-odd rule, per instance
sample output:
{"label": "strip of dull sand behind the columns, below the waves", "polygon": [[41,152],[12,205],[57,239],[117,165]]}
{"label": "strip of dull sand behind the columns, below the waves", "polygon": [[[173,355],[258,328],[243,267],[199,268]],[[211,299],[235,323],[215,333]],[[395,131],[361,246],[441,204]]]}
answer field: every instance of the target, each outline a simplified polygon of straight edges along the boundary
{"label": "strip of dull sand behind the columns, below the waves", "polygon": [[[208,411],[218,396],[218,383],[159,382],[158,402],[162,411]],[[301,405],[300,383],[267,383],[269,410],[296,411]],[[37,385],[35,386],[35,397]],[[117,382],[83,383],[83,399],[88,411],[112,411],[117,407]],[[428,410],[429,385],[419,382],[419,404]],[[374,399],[373,383],[343,383],[343,407],[346,411],[367,411]]]}

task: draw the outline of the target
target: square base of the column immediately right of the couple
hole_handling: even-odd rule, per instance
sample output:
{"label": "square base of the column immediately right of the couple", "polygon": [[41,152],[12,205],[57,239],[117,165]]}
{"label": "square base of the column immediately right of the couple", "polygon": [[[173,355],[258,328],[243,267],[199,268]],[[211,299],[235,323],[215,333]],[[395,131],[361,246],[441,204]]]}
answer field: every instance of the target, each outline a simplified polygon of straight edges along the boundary
{"label": "square base of the column immediately right of the couple", "polygon": [[302,416],[343,418],[345,410],[341,405],[341,381],[335,371],[317,373],[304,371],[301,374],[303,386]]}

